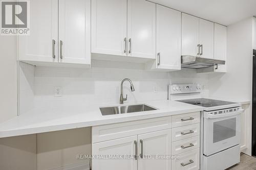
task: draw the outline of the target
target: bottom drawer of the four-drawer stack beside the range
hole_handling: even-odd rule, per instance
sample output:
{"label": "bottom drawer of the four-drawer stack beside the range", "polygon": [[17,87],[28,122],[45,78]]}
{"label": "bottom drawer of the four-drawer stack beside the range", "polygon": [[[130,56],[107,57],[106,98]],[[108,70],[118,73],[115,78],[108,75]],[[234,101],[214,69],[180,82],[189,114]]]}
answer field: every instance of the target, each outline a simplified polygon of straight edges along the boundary
{"label": "bottom drawer of the four-drawer stack beside the range", "polygon": [[198,170],[200,168],[200,148],[179,155],[172,160],[172,170]]}

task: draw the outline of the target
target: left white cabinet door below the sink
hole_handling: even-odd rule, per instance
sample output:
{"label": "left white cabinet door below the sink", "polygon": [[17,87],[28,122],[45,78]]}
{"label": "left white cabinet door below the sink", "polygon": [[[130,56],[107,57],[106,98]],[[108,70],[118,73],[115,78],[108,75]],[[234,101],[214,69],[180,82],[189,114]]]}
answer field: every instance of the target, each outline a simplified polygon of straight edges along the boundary
{"label": "left white cabinet door below the sink", "polygon": [[95,156],[119,155],[122,159],[92,159],[92,169],[94,170],[136,170],[137,160],[125,158],[124,156],[134,156],[136,154],[137,135],[115,140],[109,140],[92,144],[92,154]]}

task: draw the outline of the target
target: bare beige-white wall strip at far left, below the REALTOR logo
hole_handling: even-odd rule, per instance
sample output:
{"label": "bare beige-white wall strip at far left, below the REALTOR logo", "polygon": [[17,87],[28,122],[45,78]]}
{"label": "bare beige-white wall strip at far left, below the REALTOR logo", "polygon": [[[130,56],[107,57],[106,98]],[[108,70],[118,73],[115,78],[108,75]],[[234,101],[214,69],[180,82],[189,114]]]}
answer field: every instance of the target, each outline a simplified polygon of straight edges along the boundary
{"label": "bare beige-white wall strip at far left, below the REALTOR logo", "polygon": [[0,123],[17,115],[16,36],[0,38]]}

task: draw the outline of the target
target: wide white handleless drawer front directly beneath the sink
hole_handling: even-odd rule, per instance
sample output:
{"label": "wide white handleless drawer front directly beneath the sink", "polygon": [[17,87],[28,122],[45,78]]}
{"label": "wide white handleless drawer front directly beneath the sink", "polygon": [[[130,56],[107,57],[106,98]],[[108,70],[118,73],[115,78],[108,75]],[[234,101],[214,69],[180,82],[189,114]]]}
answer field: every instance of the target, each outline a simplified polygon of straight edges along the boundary
{"label": "wide white handleless drawer front directly beneath the sink", "polygon": [[92,142],[112,140],[172,128],[172,117],[159,117],[133,122],[92,127]]}

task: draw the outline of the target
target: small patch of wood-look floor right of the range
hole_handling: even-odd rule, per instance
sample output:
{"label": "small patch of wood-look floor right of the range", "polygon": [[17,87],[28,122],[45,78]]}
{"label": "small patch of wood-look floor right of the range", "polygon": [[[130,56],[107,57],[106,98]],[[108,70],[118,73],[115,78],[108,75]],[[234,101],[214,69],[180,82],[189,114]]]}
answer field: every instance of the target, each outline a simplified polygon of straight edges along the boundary
{"label": "small patch of wood-look floor right of the range", "polygon": [[256,158],[241,154],[240,163],[226,170],[256,170]]}

